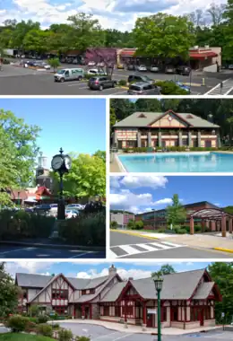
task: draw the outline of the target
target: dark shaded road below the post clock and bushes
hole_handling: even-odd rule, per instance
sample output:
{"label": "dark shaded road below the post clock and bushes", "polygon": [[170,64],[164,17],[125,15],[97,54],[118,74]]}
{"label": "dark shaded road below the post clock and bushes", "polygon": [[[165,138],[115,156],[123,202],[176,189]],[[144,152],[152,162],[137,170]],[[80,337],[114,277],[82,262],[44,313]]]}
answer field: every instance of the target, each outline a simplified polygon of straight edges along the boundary
{"label": "dark shaded road below the post clock and bushes", "polygon": [[105,252],[0,245],[0,258],[105,258]]}

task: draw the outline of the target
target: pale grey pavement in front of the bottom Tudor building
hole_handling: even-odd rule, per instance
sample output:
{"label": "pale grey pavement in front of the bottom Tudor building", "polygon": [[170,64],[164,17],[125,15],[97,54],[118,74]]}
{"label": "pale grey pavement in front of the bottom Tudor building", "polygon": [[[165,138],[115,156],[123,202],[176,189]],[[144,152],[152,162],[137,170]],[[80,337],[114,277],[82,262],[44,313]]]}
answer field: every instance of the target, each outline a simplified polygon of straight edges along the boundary
{"label": "pale grey pavement in front of the bottom Tudor building", "polygon": [[[116,330],[110,330],[103,328],[101,326],[91,325],[91,324],[80,324],[80,323],[60,323],[61,327],[71,329],[73,335],[91,337],[91,341],[156,341],[157,336],[151,336],[150,334],[135,334],[120,332]],[[164,341],[192,341],[192,339],[198,337],[199,341],[220,341],[220,340],[233,340],[233,332],[223,332],[222,330],[210,331],[207,333],[196,333],[189,334],[186,336],[168,336],[163,335],[162,340]]]}

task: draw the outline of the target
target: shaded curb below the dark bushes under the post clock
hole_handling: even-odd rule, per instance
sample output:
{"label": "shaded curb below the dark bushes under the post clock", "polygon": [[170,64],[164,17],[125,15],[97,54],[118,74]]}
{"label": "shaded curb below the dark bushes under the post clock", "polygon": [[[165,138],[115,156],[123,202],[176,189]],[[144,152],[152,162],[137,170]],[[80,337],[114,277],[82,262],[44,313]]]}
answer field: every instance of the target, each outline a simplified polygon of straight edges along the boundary
{"label": "shaded curb below the dark bushes under the post clock", "polygon": [[42,244],[42,243],[30,243],[24,241],[8,241],[0,240],[0,245],[19,245],[19,246],[30,246],[35,248],[51,248],[51,249],[81,249],[83,251],[105,251],[105,247],[99,246],[82,246],[82,245],[63,245],[63,244]]}

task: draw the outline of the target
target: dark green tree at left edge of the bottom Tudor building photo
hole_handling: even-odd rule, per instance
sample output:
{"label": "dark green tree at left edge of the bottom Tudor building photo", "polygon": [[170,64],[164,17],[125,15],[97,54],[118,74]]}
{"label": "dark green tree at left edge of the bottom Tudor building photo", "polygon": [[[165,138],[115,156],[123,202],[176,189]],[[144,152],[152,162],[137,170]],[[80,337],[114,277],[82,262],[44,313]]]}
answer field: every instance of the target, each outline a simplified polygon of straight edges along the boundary
{"label": "dark green tree at left edge of the bottom Tudor building photo", "polygon": [[13,313],[18,306],[19,289],[7,274],[4,263],[0,263],[0,318]]}

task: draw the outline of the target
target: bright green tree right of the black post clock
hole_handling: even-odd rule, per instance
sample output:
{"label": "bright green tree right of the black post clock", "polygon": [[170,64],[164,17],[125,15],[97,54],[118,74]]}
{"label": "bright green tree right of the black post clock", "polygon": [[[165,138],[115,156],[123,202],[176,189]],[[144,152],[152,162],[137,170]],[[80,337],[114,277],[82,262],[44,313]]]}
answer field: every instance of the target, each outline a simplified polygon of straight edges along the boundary
{"label": "bright green tree right of the black post clock", "polygon": [[[54,178],[58,190],[58,176]],[[99,156],[79,154],[72,156],[72,168],[64,177],[65,197],[104,197],[106,194],[106,163]]]}

